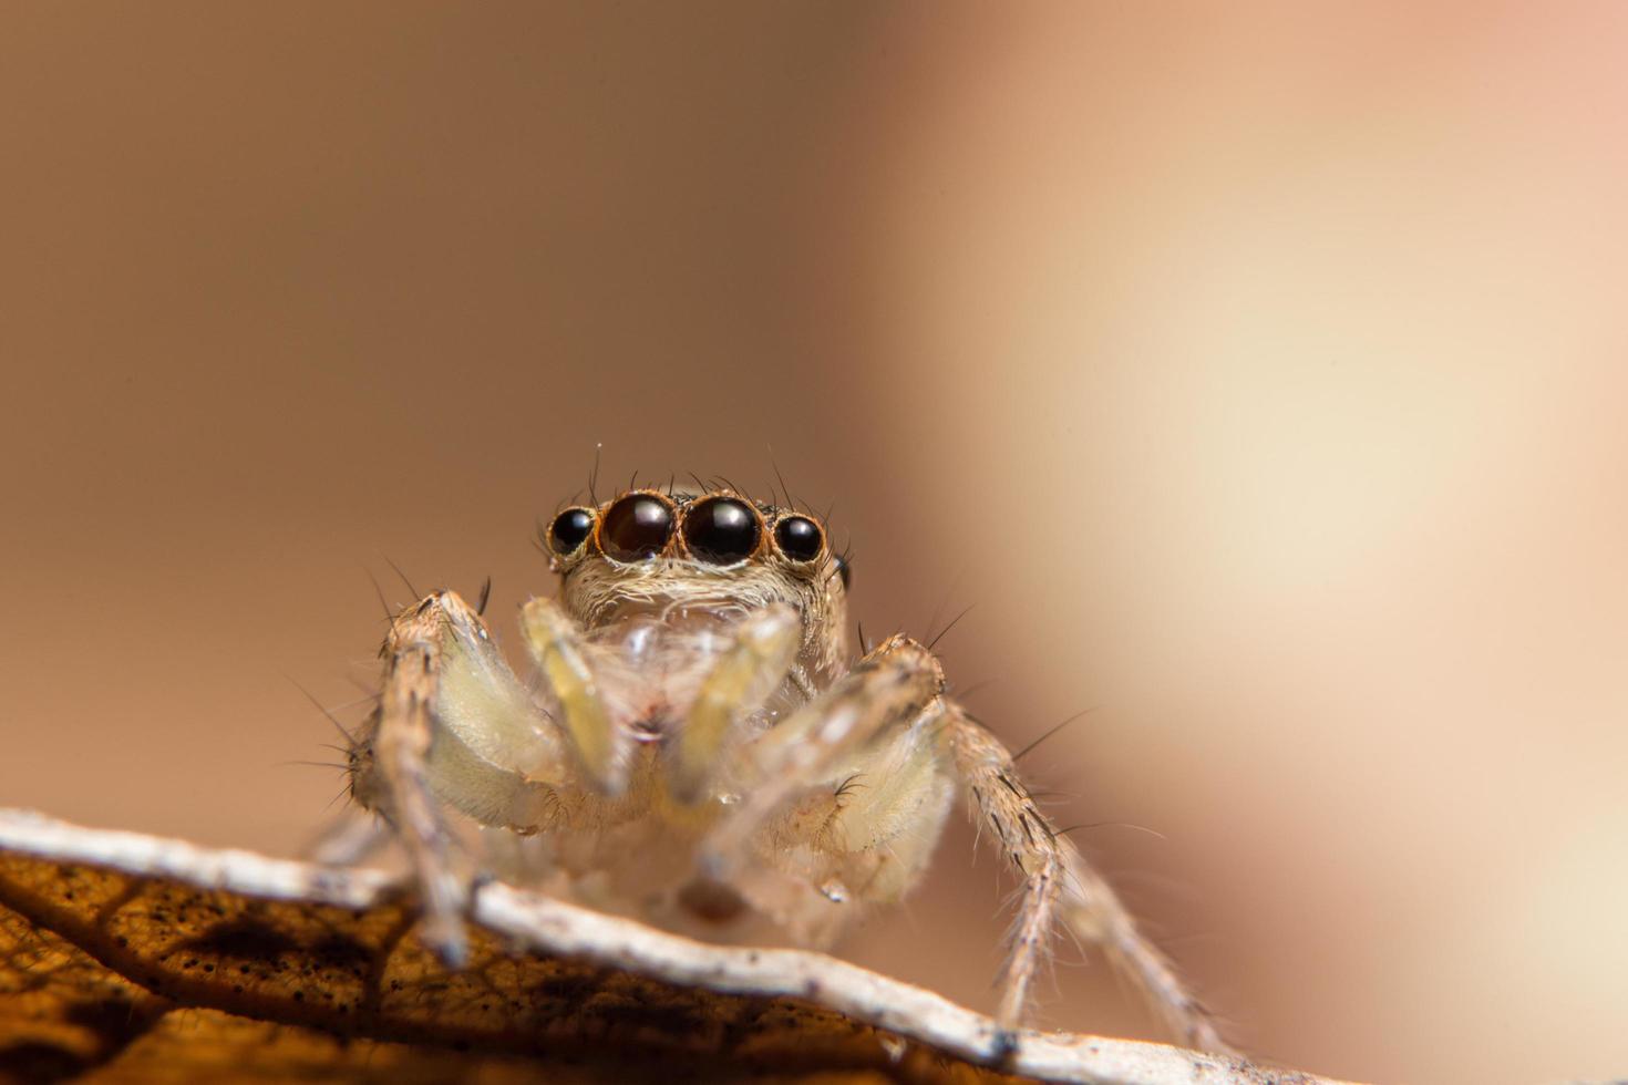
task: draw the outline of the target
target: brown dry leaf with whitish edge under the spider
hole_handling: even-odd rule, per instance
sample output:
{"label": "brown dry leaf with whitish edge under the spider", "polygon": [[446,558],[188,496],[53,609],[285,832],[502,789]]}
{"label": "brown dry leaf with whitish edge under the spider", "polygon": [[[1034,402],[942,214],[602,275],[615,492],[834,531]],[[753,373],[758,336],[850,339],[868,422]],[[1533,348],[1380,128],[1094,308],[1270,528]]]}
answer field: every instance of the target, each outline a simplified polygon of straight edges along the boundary
{"label": "brown dry leaf with whitish edge under the spider", "polygon": [[[977,1065],[1000,1059],[987,1018],[817,953],[708,947],[501,885],[474,913],[472,963],[448,971],[378,872],[0,810],[0,1080],[1021,1080]],[[1081,1082],[1267,1078],[1055,1033],[1004,1059]]]}

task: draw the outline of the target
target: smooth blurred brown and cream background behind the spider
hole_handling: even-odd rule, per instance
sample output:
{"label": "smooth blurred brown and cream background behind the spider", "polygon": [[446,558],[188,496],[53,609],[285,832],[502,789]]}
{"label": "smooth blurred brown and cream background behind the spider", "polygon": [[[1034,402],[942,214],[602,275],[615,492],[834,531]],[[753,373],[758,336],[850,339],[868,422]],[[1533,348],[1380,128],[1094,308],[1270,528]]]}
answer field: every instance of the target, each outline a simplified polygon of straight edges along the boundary
{"label": "smooth blurred brown and cream background behind the spider", "polygon": [[[291,852],[386,556],[510,631],[596,442],[772,447],[1094,708],[1032,769],[1254,1051],[1625,1074],[1625,106],[1612,3],[7,5],[0,802]],[[988,1009],[969,856],[851,952]]]}

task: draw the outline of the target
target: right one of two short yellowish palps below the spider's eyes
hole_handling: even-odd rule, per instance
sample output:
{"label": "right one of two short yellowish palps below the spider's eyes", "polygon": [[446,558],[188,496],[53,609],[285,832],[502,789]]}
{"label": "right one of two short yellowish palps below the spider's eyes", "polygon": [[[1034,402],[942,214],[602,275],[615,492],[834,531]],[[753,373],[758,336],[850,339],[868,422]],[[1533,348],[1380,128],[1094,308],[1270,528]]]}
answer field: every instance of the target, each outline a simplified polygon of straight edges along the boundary
{"label": "right one of two short yellowish palps below the spider's eyes", "polygon": [[667,753],[667,789],[681,804],[707,797],[720,756],[741,722],[786,680],[803,636],[796,610],[778,605],[746,618],[713,665]]}

